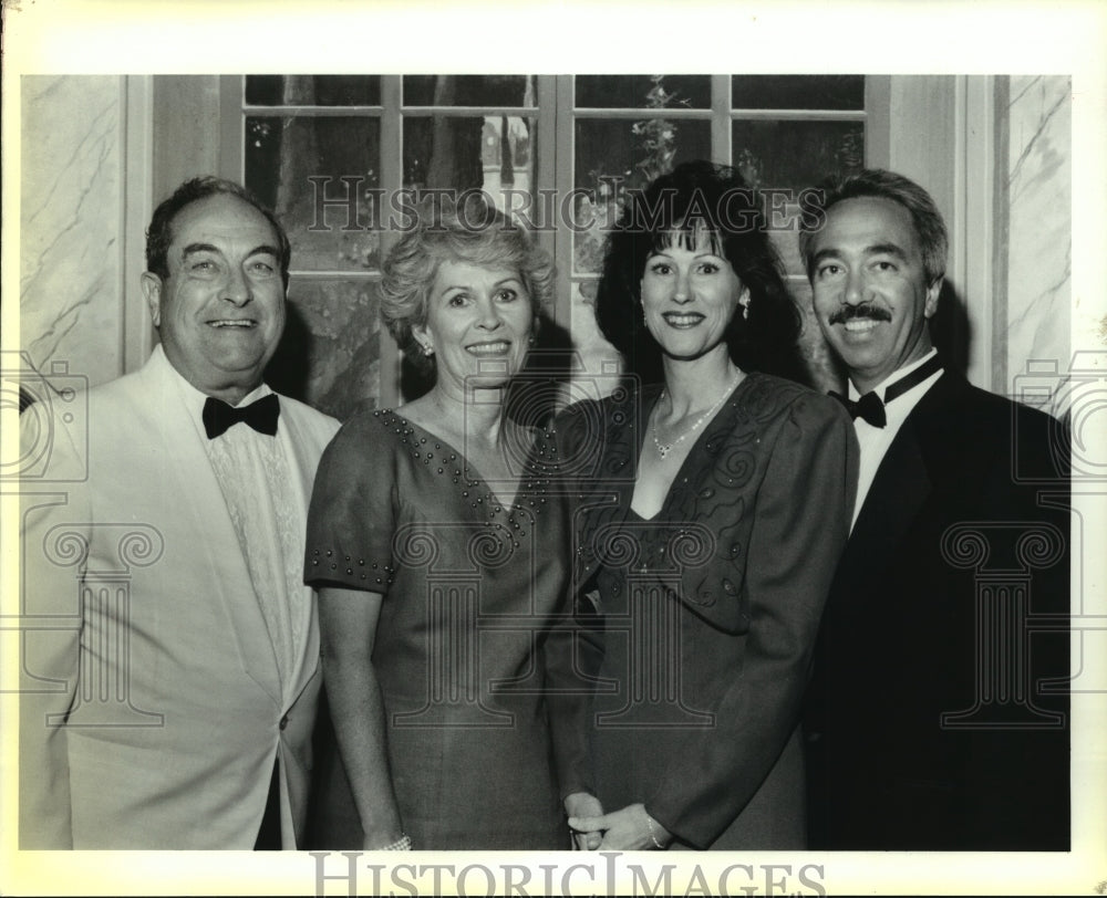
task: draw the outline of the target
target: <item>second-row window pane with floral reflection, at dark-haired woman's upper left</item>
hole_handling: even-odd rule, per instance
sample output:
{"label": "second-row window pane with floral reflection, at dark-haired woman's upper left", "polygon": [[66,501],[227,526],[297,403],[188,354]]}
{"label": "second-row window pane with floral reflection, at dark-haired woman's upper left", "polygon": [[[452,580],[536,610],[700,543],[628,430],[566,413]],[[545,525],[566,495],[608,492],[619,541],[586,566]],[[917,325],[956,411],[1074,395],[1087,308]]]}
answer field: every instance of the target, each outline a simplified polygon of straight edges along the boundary
{"label": "second-row window pane with floral reflection, at dark-haired woman's upper left", "polygon": [[576,132],[573,270],[593,272],[600,270],[603,239],[624,191],[645,187],[680,163],[710,159],[711,123],[581,118]]}

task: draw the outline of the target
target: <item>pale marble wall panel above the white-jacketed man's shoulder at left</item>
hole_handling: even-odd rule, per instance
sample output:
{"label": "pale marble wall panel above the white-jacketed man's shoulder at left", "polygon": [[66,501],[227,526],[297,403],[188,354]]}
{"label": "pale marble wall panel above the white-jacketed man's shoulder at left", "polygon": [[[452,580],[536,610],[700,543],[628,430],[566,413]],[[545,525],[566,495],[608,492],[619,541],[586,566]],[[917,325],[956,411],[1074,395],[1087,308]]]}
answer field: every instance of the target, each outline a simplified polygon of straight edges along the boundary
{"label": "pale marble wall panel above the white-jacketed man's shoulder at left", "polygon": [[123,373],[123,80],[20,86],[20,346],[103,383]]}

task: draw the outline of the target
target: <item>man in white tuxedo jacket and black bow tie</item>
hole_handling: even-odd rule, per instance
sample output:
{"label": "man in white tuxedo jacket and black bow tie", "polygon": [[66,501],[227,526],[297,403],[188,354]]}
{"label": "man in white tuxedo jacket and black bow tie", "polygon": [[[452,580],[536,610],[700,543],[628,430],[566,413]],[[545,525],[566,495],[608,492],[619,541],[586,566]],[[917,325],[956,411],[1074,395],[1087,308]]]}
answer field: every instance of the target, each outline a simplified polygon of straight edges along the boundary
{"label": "man in white tuxedo jacket and black bow tie", "polygon": [[22,498],[20,847],[294,848],[320,688],[303,529],[338,422],[262,383],[289,241],[250,194],[182,185],[146,263],[145,366],[91,389],[82,429],[23,416],[24,447],[52,438]]}

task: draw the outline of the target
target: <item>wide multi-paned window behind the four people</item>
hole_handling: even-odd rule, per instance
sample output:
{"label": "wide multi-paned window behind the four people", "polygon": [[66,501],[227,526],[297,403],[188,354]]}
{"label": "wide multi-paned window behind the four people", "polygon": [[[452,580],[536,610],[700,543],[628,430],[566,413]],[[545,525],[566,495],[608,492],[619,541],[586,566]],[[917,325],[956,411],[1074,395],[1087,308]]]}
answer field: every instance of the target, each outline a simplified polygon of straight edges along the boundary
{"label": "wide multi-paned window behind the four people", "polygon": [[[798,191],[865,164],[860,75],[249,75],[224,79],[245,182],[292,240],[289,372],[282,384],[346,417],[406,387],[377,319],[381,259],[402,188],[483,189],[536,226],[559,271],[549,316],[594,325],[604,228],[625,191],[685,159],[737,166],[754,186]],[[867,105],[868,103],[868,105]],[[571,220],[569,219],[571,217]],[[785,217],[787,217],[785,215]],[[571,226],[571,227],[570,227]],[[774,234],[808,307],[795,232]],[[805,328],[818,378],[829,365]],[[814,332],[814,333],[813,333]],[[290,375],[291,376],[291,375]]]}

